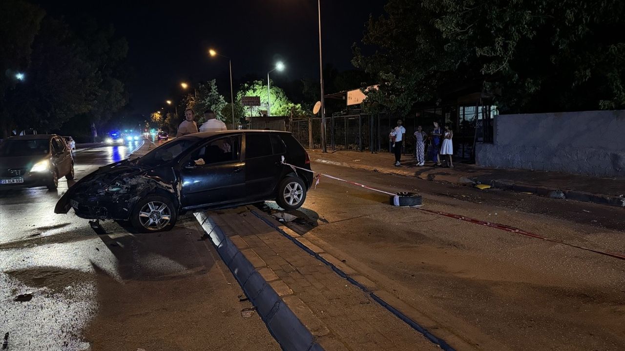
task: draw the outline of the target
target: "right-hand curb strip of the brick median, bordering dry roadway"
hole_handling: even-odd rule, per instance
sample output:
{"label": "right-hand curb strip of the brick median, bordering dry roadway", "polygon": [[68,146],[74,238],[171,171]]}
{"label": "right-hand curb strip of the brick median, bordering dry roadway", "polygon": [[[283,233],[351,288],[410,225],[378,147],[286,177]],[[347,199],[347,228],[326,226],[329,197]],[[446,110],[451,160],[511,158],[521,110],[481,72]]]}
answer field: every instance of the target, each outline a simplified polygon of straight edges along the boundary
{"label": "right-hand curb strip of the brick median, bordering dry roadway", "polygon": [[[310,243],[309,240],[301,240],[303,238],[301,236],[299,236],[299,235],[298,235],[299,237],[294,237],[294,236],[292,236],[290,234],[287,234],[287,232],[285,230],[285,229],[287,229],[286,227],[282,226],[281,223],[276,222],[272,218],[268,218],[267,215],[265,215],[264,212],[262,212],[261,210],[250,209],[250,212],[253,215],[256,215],[256,217],[258,217],[260,220],[265,222],[267,225],[269,225],[272,228],[274,228],[277,232],[281,233],[284,237],[286,237],[287,239],[289,239],[292,242],[294,242],[301,249],[303,249],[306,252],[308,252],[308,254],[312,255],[313,257],[315,257],[318,260],[321,260],[321,262],[323,262],[324,264],[329,265],[331,267],[331,269],[334,270],[334,272],[336,272],[336,274],[338,274],[341,277],[345,278],[348,282],[350,282],[353,285],[356,285],[356,287],[358,287],[362,291],[364,291],[367,294],[369,294],[369,296],[371,296],[371,298],[374,301],[376,301],[382,307],[384,307],[387,310],[389,310],[392,314],[394,314],[397,317],[399,317],[399,319],[404,321],[412,329],[414,329],[417,332],[419,332],[422,335],[424,335],[432,343],[438,345],[442,350],[444,350],[444,351],[455,351],[455,349],[453,349],[449,344],[447,344],[447,342],[445,342],[444,340],[434,336],[434,334],[429,332],[429,330],[427,330],[425,327],[423,327],[422,325],[419,325],[415,320],[412,320],[406,314],[401,312],[401,310],[399,308],[396,308],[393,305],[391,305],[389,303],[390,299],[385,297],[387,295],[388,296],[390,296],[390,295],[388,293],[382,291],[382,290],[375,290],[375,289],[377,289],[377,286],[376,286],[376,284],[374,282],[371,282],[371,280],[367,279],[366,277],[363,277],[362,275],[359,275],[356,272],[356,270],[354,270],[351,267],[349,267],[348,265],[344,264],[343,262],[341,262],[341,260],[339,260],[336,257],[332,256],[331,254],[327,254],[326,252],[316,252],[316,249],[319,249],[319,247],[317,247],[317,245],[314,245],[314,244]],[[310,243],[312,245],[312,247],[307,247],[307,245],[306,245],[307,243]],[[322,251],[322,249],[320,249],[320,250]],[[384,293],[386,293],[386,295]]]}

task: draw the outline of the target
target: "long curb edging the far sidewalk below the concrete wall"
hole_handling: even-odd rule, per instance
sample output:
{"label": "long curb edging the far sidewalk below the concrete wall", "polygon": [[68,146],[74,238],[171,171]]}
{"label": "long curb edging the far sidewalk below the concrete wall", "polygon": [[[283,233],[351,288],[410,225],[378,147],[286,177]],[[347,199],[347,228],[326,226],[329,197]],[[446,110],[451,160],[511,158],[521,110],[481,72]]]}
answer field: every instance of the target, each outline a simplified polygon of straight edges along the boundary
{"label": "long curb edging the far sidewalk below the concrete wall", "polygon": [[619,197],[616,195],[606,195],[606,194],[593,194],[591,192],[584,192],[580,190],[564,190],[564,189],[556,189],[551,187],[543,187],[539,185],[529,185],[512,182],[510,180],[500,180],[500,179],[490,179],[486,177],[465,177],[465,176],[457,176],[457,175],[449,175],[449,174],[428,174],[425,173],[421,175],[415,175],[414,172],[409,171],[400,171],[400,170],[387,170],[385,168],[377,169],[372,166],[367,166],[363,164],[351,164],[349,162],[340,162],[340,161],[331,161],[327,159],[315,159],[316,162],[321,162],[324,164],[331,164],[334,166],[342,166],[347,168],[354,169],[363,169],[365,171],[374,171],[381,172],[384,174],[397,174],[404,175],[406,177],[417,177],[423,180],[434,180],[437,182],[447,182],[452,184],[460,184],[460,185],[474,185],[474,184],[488,184],[496,189],[503,190],[511,190],[516,192],[531,192],[532,194],[541,195],[541,196],[549,196],[549,193],[554,191],[562,191],[566,196],[566,199],[576,200],[582,202],[592,202],[594,204],[601,205],[611,205],[617,207],[625,207],[625,197]]}

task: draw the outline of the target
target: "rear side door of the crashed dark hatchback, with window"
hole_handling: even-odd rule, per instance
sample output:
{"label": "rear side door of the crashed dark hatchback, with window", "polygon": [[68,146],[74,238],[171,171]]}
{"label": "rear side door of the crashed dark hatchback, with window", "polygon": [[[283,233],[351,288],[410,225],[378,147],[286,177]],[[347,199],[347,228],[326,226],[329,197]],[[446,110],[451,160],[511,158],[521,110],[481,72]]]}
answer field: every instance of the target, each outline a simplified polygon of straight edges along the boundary
{"label": "rear side door of the crashed dark hatchback, with window", "polygon": [[245,187],[249,199],[266,199],[274,194],[279,182],[282,159],[281,154],[274,154],[271,137],[269,132],[245,135]]}

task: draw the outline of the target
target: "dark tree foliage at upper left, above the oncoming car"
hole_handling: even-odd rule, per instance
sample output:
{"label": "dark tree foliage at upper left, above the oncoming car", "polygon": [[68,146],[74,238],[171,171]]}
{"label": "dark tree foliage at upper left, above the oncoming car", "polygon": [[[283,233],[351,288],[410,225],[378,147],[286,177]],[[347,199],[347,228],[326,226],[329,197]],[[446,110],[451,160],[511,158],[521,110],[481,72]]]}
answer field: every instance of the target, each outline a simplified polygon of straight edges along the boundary
{"label": "dark tree foliage at upper left, above the oncoming car", "polygon": [[[2,2],[0,27],[0,62],[9,67],[0,84],[3,136],[14,129],[49,132],[66,122],[90,126],[126,104],[120,68],[128,44],[113,27],[86,22],[73,29],[22,0]],[[13,79],[18,70],[23,81]]]}

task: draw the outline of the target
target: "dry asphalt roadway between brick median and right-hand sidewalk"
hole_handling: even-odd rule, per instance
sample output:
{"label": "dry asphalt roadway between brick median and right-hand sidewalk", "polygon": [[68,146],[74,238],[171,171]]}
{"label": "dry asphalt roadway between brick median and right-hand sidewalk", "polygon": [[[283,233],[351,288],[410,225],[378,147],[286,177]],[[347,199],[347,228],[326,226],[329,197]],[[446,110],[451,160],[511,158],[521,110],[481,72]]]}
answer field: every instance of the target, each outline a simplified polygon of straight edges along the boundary
{"label": "dry asphalt roadway between brick median and right-hand sidewalk", "polygon": [[[377,189],[419,192],[424,209],[625,253],[622,208],[315,162],[312,168]],[[387,195],[327,177],[301,212],[291,213],[302,217],[292,229],[412,305],[423,317],[417,322],[433,325],[438,336],[476,350],[625,350],[624,260],[393,207]]]}

